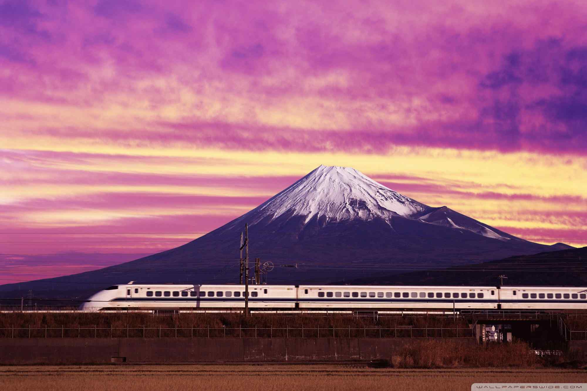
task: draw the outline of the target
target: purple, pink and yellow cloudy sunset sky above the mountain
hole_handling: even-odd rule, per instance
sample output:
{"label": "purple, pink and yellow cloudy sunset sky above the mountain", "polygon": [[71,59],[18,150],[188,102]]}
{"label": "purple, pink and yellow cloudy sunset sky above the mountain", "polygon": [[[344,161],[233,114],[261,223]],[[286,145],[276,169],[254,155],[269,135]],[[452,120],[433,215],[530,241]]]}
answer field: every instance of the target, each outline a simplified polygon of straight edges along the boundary
{"label": "purple, pink and yellow cloudy sunset sky above the mountain", "polygon": [[0,0],[0,284],[177,247],[320,164],[585,246],[585,20],[584,1]]}

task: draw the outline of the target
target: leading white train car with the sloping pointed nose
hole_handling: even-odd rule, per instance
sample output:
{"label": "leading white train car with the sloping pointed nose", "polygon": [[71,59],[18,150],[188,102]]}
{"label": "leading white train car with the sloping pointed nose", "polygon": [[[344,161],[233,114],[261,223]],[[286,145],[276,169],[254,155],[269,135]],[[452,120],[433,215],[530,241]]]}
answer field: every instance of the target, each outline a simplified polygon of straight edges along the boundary
{"label": "leading white train car with the sloping pointed nose", "polygon": [[[250,308],[294,308],[296,288],[250,285]],[[243,308],[244,285],[129,284],[112,285],[92,295],[80,307],[99,309]]]}

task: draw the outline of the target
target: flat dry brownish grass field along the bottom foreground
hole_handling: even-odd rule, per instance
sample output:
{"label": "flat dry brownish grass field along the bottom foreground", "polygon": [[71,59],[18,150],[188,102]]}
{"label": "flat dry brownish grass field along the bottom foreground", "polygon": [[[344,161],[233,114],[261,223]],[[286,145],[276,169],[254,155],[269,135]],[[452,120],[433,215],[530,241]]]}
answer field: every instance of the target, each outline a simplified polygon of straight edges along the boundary
{"label": "flat dry brownish grass field along the bottom foreground", "polygon": [[587,383],[585,370],[372,369],[356,365],[0,367],[0,390],[470,390],[473,383]]}

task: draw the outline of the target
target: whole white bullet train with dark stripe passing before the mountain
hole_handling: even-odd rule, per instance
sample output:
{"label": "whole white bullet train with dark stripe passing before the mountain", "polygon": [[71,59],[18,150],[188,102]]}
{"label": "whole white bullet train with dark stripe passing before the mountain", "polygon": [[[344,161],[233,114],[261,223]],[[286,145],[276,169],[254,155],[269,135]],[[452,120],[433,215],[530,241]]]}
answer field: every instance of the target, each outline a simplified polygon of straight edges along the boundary
{"label": "whole white bullet train with dark stripe passing before the mountain", "polygon": [[[244,308],[244,285],[113,285],[80,308]],[[570,286],[249,285],[250,308],[587,309],[587,288]]]}

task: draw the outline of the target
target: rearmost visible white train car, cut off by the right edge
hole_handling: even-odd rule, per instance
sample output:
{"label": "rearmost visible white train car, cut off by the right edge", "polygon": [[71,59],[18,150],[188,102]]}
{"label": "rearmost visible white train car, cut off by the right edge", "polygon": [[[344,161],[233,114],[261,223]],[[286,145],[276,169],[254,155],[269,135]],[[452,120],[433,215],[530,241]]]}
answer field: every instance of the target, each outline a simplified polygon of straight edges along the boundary
{"label": "rearmost visible white train car, cut off by the right edge", "polygon": [[587,309],[587,288],[501,286],[501,309]]}

